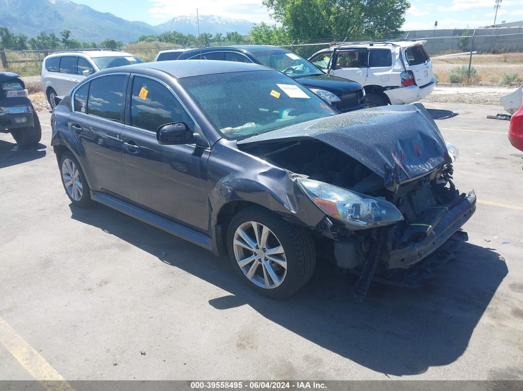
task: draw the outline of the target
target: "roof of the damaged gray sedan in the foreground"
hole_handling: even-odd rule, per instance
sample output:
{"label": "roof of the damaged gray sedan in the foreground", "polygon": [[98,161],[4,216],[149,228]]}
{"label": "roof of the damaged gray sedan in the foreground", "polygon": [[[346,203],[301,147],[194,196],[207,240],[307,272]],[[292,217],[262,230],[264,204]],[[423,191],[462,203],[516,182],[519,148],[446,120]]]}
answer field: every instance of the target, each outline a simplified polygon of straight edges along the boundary
{"label": "roof of the damaged gray sedan in the foreground", "polygon": [[[212,75],[228,72],[247,72],[259,70],[274,69],[252,63],[240,63],[232,61],[217,61],[217,60],[187,60],[187,61],[155,61],[151,63],[133,64],[120,66],[116,68],[108,68],[96,75],[112,73],[112,72],[135,72],[148,74],[147,70],[160,70],[177,79],[191,76]],[[277,71],[276,71],[277,72]]]}

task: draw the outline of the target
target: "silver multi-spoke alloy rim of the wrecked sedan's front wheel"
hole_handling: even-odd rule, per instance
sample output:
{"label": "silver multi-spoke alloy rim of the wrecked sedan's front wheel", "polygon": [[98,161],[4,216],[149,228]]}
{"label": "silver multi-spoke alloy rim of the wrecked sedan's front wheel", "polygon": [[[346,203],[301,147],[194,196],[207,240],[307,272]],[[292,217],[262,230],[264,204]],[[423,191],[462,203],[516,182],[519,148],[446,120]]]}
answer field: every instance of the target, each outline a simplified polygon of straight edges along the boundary
{"label": "silver multi-spoke alloy rim of the wrecked sedan's front wheel", "polygon": [[247,221],[234,233],[234,256],[245,277],[260,288],[274,289],[287,276],[287,258],[276,235],[264,224]]}

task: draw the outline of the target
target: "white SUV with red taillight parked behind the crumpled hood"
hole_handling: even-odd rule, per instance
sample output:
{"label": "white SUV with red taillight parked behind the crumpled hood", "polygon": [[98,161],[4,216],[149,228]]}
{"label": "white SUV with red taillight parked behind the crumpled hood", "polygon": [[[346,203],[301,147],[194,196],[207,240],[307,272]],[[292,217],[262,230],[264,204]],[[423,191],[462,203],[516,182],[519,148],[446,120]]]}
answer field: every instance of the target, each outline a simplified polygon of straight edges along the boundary
{"label": "white SUV with red taillight parked behind the crumpled hood", "polygon": [[328,74],[359,82],[368,106],[423,99],[436,86],[427,41],[365,42],[332,46],[309,61]]}

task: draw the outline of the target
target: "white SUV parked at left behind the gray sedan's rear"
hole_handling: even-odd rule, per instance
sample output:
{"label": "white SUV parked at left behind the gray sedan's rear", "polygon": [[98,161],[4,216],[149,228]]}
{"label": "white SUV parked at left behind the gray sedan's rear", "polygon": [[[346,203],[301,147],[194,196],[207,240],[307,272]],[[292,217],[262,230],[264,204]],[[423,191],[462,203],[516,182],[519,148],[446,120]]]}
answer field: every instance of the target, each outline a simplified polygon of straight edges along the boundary
{"label": "white SUV parked at left behind the gray sedan's rear", "polygon": [[60,99],[87,76],[98,70],[137,63],[143,61],[130,53],[113,49],[55,52],[43,60],[42,91],[54,109],[55,98]]}

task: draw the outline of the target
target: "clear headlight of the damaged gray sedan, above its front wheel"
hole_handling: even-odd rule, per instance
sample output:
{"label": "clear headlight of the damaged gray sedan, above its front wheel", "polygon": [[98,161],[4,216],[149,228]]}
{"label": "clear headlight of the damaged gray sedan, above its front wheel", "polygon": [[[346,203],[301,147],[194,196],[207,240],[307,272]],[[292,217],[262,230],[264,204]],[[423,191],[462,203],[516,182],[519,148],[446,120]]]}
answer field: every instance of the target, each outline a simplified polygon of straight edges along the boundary
{"label": "clear headlight of the damaged gray sedan, above its front wheel", "polygon": [[352,229],[389,226],[403,220],[397,208],[384,198],[370,197],[312,179],[298,179],[306,195],[327,215]]}

